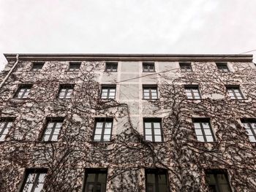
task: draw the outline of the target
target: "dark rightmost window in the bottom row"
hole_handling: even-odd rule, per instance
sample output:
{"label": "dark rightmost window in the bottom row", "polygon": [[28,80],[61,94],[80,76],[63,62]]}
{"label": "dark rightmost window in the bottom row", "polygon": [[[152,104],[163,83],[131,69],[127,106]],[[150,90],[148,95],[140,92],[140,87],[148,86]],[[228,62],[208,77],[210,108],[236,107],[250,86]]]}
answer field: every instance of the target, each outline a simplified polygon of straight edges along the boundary
{"label": "dark rightmost window in the bottom row", "polygon": [[206,182],[209,192],[231,192],[227,172],[222,169],[211,169],[206,171]]}

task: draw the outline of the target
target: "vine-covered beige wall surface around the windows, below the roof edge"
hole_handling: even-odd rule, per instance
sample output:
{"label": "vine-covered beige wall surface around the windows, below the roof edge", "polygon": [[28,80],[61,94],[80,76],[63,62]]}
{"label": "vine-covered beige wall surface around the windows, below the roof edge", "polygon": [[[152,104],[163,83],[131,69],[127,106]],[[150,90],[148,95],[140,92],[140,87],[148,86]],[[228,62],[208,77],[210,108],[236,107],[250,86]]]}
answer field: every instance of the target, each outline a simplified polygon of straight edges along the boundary
{"label": "vine-covered beige wall surface around the windows, below the roof edge", "polygon": [[[13,63],[9,65],[12,66]],[[0,142],[0,191],[18,191],[25,169],[47,168],[45,191],[81,191],[86,168],[108,168],[107,191],[145,191],[145,168],[167,169],[170,191],[208,191],[206,169],[225,169],[233,191],[256,191],[255,143],[241,118],[256,118],[256,69],[228,62],[119,61],[105,72],[103,61],[83,61],[69,72],[67,61],[47,61],[39,72],[20,61],[0,91],[1,118],[15,118]],[[10,66],[6,67],[7,73]],[[13,98],[20,84],[33,84],[28,99]],[[71,99],[58,99],[59,85],[75,84]],[[101,85],[116,85],[116,99],[99,99]],[[143,99],[143,85],[157,85],[159,99]],[[198,85],[202,99],[189,100],[184,85]],[[239,85],[244,99],[227,95]],[[42,142],[47,118],[64,118],[58,142]],[[94,118],[113,118],[110,142],[93,142]],[[143,118],[162,118],[163,142],[146,142]],[[192,118],[210,118],[216,142],[198,142]]]}

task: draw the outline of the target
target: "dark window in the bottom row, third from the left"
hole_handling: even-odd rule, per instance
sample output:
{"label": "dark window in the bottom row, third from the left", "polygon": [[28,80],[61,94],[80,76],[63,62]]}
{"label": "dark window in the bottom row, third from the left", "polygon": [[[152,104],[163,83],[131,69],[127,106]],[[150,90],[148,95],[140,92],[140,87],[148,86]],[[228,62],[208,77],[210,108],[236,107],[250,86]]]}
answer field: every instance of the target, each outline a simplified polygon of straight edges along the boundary
{"label": "dark window in the bottom row, third from the left", "polygon": [[167,192],[167,171],[146,169],[146,192]]}

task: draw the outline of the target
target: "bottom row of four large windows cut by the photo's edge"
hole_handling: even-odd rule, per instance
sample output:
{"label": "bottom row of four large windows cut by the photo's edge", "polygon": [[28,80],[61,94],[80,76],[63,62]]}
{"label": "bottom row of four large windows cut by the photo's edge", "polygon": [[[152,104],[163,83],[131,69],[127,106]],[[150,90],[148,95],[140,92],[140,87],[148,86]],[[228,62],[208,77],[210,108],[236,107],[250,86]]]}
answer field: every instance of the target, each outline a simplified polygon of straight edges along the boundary
{"label": "bottom row of four large windows cut by the photo's edge", "polygon": [[[166,169],[145,169],[146,192],[167,192],[168,174]],[[86,169],[83,192],[105,192],[108,169]],[[42,191],[47,169],[26,169],[25,180],[20,192]],[[210,191],[231,192],[225,169],[206,170],[206,183]]]}

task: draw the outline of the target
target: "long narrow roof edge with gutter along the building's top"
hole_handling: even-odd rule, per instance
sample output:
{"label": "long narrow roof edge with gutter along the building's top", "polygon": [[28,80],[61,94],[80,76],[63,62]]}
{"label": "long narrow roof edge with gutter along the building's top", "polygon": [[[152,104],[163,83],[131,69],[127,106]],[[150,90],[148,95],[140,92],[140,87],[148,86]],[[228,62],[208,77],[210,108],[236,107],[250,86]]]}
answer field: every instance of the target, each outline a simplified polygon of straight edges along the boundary
{"label": "long narrow roof edge with gutter along the building's top", "polygon": [[7,61],[246,61],[252,54],[4,53]]}

